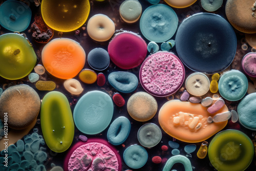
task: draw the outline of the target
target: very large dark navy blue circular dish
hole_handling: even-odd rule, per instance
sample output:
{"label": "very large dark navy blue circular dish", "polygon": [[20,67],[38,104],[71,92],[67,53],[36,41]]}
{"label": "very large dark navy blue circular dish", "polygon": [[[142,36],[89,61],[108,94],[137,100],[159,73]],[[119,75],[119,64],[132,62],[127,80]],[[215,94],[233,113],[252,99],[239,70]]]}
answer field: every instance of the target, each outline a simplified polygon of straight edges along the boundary
{"label": "very large dark navy blue circular dish", "polygon": [[236,55],[237,36],[220,15],[198,13],[183,20],[178,28],[176,50],[189,69],[218,73],[226,69]]}

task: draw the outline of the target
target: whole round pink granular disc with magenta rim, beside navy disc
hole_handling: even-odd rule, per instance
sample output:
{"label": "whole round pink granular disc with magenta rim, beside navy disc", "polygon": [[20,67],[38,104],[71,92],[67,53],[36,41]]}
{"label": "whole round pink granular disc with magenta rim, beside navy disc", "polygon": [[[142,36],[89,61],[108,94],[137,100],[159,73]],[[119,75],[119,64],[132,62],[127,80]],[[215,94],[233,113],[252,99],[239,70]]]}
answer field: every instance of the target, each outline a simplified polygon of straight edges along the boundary
{"label": "whole round pink granular disc with magenta rim, beside navy disc", "polygon": [[184,81],[184,66],[172,53],[155,53],[144,61],[142,67],[141,84],[148,93],[153,95],[173,94]]}

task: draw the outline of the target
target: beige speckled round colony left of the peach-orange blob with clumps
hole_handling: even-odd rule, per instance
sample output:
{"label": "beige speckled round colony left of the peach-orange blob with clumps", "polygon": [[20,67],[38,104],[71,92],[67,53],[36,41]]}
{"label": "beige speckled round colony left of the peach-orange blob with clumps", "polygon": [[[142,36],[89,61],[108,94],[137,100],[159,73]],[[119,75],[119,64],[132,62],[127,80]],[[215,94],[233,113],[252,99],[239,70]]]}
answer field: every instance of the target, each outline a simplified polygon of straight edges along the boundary
{"label": "beige speckled round colony left of the peach-orange blob with clumps", "polygon": [[127,111],[137,121],[148,121],[157,113],[157,101],[148,93],[137,92],[127,101]]}

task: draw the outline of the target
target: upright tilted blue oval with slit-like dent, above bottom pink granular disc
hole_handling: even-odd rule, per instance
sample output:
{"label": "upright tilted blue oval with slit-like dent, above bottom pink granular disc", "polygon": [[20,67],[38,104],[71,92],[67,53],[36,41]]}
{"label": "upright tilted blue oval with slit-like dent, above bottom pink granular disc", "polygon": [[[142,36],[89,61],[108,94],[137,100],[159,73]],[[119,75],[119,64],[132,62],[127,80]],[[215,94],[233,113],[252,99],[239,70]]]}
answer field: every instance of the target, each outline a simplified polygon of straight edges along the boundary
{"label": "upright tilted blue oval with slit-like dent, above bottom pink granular disc", "polygon": [[116,118],[109,127],[106,137],[113,145],[122,144],[130,134],[131,123],[129,119],[121,116]]}

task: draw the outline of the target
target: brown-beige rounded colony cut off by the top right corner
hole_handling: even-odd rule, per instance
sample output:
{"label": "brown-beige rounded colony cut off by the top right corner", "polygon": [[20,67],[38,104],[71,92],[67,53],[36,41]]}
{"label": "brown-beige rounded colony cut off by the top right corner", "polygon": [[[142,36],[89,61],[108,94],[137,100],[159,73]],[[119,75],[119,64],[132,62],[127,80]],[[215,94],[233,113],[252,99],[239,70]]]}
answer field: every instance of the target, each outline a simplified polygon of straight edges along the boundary
{"label": "brown-beige rounded colony cut off by the top right corner", "polygon": [[256,33],[255,0],[228,0],[226,16],[230,24],[244,33]]}

